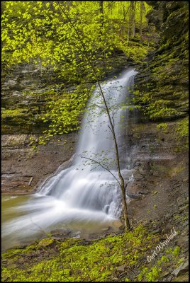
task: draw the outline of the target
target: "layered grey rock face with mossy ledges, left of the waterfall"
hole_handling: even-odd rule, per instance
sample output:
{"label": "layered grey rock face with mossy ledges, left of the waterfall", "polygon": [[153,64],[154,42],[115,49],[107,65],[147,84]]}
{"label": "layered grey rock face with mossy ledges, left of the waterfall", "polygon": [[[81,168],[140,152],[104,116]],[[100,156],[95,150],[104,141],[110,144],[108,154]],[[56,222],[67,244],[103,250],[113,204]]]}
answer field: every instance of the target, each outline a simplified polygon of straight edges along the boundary
{"label": "layered grey rock face with mossy ledges, left of the waterfall", "polygon": [[[45,110],[47,93],[61,86],[55,72],[40,66],[20,64],[2,72],[1,107],[4,134],[39,133],[45,129],[40,113]],[[8,110],[8,111],[7,111]],[[10,111],[9,111],[10,110]]]}

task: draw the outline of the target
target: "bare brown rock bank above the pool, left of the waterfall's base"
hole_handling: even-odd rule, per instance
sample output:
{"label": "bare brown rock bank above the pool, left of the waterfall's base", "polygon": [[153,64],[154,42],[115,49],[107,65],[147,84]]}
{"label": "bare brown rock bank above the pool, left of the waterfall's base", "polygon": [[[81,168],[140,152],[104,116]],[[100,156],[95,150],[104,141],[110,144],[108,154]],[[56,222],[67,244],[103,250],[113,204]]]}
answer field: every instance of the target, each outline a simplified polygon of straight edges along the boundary
{"label": "bare brown rock bank above the pool, left of the waterfall's base", "polygon": [[37,134],[4,134],[1,137],[2,192],[28,194],[39,190],[39,185],[72,157],[78,140],[77,133],[56,136],[34,151],[31,137],[38,140]]}

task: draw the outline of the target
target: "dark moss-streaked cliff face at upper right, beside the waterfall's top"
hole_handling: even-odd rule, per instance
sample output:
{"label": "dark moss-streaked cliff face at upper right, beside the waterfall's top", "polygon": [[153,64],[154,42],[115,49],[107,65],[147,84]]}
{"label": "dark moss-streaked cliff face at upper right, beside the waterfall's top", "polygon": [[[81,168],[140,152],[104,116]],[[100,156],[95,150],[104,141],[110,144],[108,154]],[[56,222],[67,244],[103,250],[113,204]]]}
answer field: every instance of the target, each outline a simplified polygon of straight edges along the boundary
{"label": "dark moss-streaked cliff face at upper right, beside the waterfall's top", "polygon": [[151,5],[147,19],[155,25],[160,41],[136,76],[137,103],[152,120],[175,120],[188,112],[188,2]]}

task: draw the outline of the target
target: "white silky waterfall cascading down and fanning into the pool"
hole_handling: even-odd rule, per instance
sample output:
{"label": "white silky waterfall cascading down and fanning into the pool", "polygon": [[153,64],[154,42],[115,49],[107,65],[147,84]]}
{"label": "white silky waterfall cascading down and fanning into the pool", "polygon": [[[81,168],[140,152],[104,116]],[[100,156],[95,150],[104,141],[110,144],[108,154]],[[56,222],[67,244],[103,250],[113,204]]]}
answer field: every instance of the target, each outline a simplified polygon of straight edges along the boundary
{"label": "white silky waterfall cascading down and fanning into the pool", "polygon": [[[121,172],[125,180],[131,178],[132,171],[130,153],[122,152],[120,146],[123,142],[122,120],[125,124],[128,122],[126,96],[129,96],[128,88],[133,85],[135,74],[129,69],[118,79],[101,83],[118,137]],[[117,226],[121,192],[116,180],[113,136],[108,125],[108,115],[97,87],[89,101],[72,166],[47,180],[26,203],[9,209],[19,216],[2,226],[3,239],[9,236],[9,241],[11,238],[21,241],[55,228],[69,228],[79,234]]]}

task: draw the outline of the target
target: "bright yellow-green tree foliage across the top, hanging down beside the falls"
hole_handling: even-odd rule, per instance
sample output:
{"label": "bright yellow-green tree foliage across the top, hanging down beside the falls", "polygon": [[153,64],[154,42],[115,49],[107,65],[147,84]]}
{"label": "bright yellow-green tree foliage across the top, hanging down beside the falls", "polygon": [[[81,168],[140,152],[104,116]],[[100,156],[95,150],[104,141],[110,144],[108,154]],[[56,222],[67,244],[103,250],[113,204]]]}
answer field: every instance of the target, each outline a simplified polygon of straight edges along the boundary
{"label": "bright yellow-green tree foliage across the top, hanging down beside the falls", "polygon": [[[143,3],[145,10],[150,9]],[[138,33],[131,35],[131,42],[128,41],[129,1],[105,1],[103,8],[102,15],[99,1],[4,1],[2,4],[4,69],[23,62],[38,64],[38,67],[45,67],[47,72],[57,72],[57,78],[63,84],[77,83],[80,88],[80,91],[72,95],[65,93],[66,99],[60,98],[48,103],[43,120],[50,122],[51,126],[45,132],[42,142],[54,134],[79,128],[79,117],[90,94],[90,91],[86,94],[84,82],[96,79],[86,55],[94,66],[97,78],[101,79],[111,71],[112,58],[116,53],[124,53],[139,62],[145,57],[147,50],[150,50],[148,45],[143,45],[143,42],[147,43],[147,35],[141,43]],[[140,1],[136,1],[137,29],[140,29],[140,25],[147,28],[145,10],[140,11]],[[69,23],[67,15],[74,27]],[[82,38],[85,50],[74,29]],[[60,92],[57,97],[59,95]],[[72,110],[67,107],[70,103]]]}

